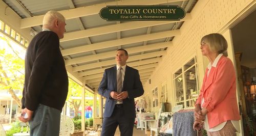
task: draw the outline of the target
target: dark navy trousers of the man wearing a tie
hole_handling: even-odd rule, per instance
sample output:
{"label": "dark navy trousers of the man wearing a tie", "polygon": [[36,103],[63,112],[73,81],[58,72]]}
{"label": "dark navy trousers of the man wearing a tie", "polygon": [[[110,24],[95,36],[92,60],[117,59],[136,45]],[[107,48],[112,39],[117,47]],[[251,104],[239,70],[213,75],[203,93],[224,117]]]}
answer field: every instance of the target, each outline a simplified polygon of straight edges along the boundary
{"label": "dark navy trousers of the man wearing a tie", "polygon": [[111,117],[104,117],[101,136],[114,136],[117,126],[121,136],[132,136],[135,118],[127,118],[124,116],[123,106],[114,108]]}

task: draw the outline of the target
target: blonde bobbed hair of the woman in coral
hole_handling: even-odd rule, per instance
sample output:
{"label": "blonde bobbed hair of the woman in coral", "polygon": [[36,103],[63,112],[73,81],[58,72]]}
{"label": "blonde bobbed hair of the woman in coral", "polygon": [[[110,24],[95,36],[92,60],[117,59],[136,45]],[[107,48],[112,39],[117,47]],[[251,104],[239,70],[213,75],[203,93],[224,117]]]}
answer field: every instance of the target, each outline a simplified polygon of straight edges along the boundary
{"label": "blonde bobbed hair of the woman in coral", "polygon": [[201,44],[203,42],[209,45],[210,51],[223,53],[227,57],[227,41],[221,34],[212,33],[206,35],[201,39]]}

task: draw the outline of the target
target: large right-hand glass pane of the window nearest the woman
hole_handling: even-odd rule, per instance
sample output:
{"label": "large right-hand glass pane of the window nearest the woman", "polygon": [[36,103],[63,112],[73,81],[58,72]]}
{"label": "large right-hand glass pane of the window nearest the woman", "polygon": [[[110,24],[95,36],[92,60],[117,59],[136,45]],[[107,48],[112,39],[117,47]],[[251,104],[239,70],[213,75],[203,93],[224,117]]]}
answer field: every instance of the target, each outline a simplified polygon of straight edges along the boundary
{"label": "large right-hand glass pane of the window nearest the woman", "polygon": [[197,76],[196,67],[193,66],[185,72],[186,99],[197,97]]}

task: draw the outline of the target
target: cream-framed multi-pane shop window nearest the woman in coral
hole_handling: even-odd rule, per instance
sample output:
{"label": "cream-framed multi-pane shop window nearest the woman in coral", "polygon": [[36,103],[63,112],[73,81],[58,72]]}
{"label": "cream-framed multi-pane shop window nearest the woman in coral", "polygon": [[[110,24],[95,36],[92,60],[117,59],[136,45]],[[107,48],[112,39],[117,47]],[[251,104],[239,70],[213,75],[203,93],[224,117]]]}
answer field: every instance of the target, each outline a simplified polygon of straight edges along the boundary
{"label": "cream-framed multi-pane shop window nearest the woman in coral", "polygon": [[174,85],[176,105],[193,107],[199,93],[196,57],[174,73]]}

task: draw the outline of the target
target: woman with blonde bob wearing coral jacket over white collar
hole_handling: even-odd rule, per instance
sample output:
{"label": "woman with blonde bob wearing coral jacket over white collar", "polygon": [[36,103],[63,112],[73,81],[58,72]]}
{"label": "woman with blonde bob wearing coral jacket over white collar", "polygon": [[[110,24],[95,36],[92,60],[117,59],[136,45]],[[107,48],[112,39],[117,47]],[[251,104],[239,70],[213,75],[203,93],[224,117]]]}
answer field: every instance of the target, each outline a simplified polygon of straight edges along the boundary
{"label": "woman with blonde bob wearing coral jacket over white collar", "polygon": [[204,121],[207,135],[236,135],[240,131],[236,95],[236,73],[227,58],[227,41],[221,34],[209,34],[201,39],[202,55],[210,63],[195,107],[194,129]]}

